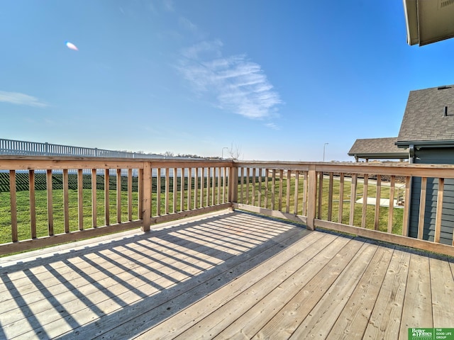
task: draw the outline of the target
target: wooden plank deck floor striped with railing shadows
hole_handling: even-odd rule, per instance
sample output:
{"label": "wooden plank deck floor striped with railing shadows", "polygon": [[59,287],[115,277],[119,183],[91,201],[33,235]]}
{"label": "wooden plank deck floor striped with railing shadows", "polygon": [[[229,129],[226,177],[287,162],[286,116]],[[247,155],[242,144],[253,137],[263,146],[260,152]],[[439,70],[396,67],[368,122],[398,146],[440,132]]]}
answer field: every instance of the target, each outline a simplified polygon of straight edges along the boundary
{"label": "wooden plank deck floor striped with railing shadows", "polygon": [[407,339],[454,327],[453,273],[446,256],[223,211],[1,258],[0,339]]}

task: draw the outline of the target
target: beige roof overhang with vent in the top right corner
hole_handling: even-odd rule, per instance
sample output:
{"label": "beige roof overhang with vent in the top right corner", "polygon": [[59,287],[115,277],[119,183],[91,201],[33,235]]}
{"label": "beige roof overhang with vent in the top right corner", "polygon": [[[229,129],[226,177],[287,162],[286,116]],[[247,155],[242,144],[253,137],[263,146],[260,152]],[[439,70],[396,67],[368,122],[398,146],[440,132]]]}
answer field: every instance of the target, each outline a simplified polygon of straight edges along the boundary
{"label": "beige roof overhang with vent in the top right corner", "polygon": [[454,37],[454,0],[403,0],[406,40],[423,46]]}

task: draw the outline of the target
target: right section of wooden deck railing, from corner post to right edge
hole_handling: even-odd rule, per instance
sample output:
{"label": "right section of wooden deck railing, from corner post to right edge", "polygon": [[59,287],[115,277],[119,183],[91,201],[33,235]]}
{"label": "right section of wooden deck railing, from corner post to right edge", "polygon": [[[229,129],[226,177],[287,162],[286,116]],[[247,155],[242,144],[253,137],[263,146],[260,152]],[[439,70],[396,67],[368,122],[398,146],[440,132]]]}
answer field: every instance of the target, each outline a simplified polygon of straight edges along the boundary
{"label": "right section of wooden deck railing, from corner post to right edge", "polygon": [[235,208],[454,255],[454,166],[236,165]]}

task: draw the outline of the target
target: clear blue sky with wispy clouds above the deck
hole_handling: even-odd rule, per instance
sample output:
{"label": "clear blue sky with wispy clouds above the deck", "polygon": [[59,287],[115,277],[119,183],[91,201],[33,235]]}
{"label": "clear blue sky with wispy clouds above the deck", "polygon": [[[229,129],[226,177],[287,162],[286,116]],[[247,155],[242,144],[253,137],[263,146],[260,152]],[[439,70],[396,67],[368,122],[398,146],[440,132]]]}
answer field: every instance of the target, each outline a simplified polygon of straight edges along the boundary
{"label": "clear blue sky with wispy clouds above the deck", "polygon": [[454,40],[407,45],[402,1],[1,5],[7,139],[353,160],[357,138],[398,135],[409,91],[454,83]]}

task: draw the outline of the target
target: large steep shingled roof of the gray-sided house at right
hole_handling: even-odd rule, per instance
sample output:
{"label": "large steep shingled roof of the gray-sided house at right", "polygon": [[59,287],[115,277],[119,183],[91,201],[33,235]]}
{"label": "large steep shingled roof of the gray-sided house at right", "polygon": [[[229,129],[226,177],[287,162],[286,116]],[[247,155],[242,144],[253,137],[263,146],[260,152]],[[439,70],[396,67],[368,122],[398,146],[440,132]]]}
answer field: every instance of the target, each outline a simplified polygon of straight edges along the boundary
{"label": "large steep shingled roof of the gray-sided house at right", "polygon": [[410,91],[397,145],[411,144],[454,144],[454,85]]}

